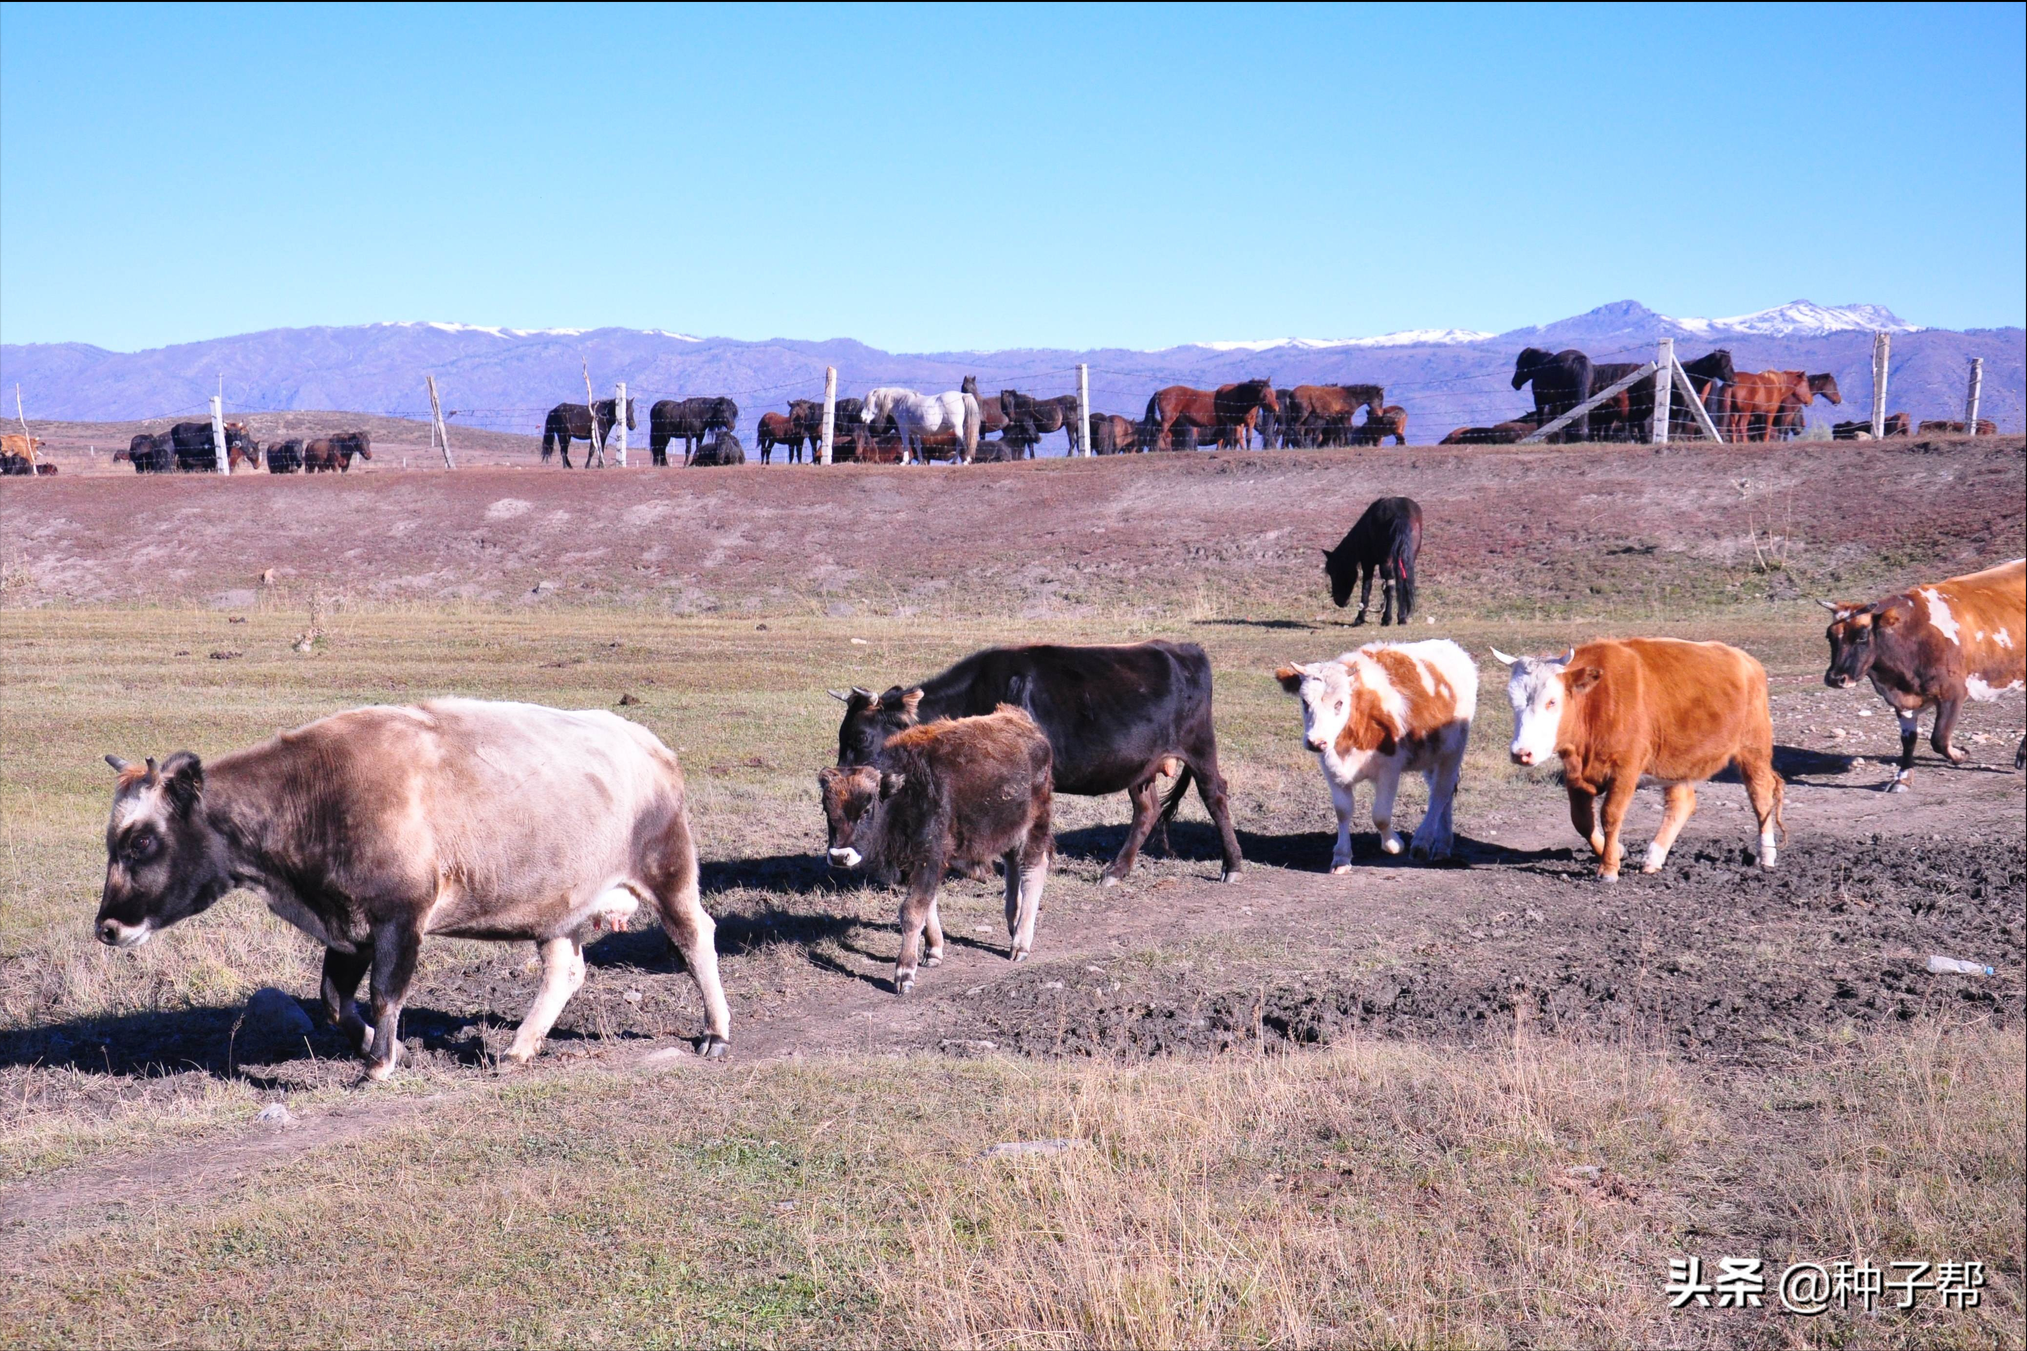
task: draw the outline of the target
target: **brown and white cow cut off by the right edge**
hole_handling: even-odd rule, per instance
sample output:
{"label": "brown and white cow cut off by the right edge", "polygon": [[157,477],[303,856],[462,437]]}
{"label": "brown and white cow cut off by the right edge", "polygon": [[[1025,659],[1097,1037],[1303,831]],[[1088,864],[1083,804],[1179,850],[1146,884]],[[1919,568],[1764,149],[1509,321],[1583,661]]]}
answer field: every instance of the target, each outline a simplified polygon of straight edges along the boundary
{"label": "brown and white cow cut off by the right edge", "polygon": [[[1901,725],[1901,762],[1889,792],[1905,792],[1922,711],[1936,709],[1930,745],[1952,764],[1964,753],[1950,745],[1964,699],[1991,703],[2027,685],[2027,559],[1982,573],[1918,585],[1873,604],[1818,602],[1832,620],[1830,668],[1822,683],[1851,689],[1871,681]],[[2027,737],[2013,768],[2027,766]]]}

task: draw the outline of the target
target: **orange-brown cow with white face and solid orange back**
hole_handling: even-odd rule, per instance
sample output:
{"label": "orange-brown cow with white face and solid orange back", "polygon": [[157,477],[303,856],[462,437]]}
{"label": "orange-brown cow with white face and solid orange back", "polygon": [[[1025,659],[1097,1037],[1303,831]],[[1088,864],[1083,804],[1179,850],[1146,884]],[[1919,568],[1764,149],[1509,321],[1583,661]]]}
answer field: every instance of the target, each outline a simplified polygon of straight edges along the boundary
{"label": "orange-brown cow with white face and solid orange back", "polygon": [[1563,656],[1492,654],[1512,666],[1512,760],[1563,760],[1569,820],[1597,851],[1599,877],[1620,877],[1620,826],[1642,778],[1658,780],[1668,796],[1640,867],[1658,873],[1697,810],[1697,784],[1725,766],[1737,766],[1759,820],[1759,867],[1774,867],[1774,832],[1786,826],[1768,672],[1757,660],[1723,642],[1676,638],[1587,642]]}

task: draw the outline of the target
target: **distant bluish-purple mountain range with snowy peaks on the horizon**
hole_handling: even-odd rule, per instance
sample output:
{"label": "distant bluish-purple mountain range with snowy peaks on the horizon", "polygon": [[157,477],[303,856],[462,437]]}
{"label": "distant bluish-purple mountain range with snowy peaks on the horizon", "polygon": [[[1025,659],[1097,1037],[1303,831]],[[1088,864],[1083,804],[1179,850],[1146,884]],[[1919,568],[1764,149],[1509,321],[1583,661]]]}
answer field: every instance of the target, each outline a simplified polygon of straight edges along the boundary
{"label": "distant bluish-purple mountain range with snowy peaks on the horizon", "polygon": [[1741,371],[1804,369],[1836,375],[1845,407],[1818,403],[1814,419],[1861,417],[1871,407],[1873,332],[1893,334],[1891,409],[1913,417],[1962,417],[1970,356],[1984,359],[1980,413],[2005,431],[2023,425],[2027,330],[1956,332],[1916,328],[1885,306],[1818,306],[1796,300],[1733,318],[1670,318],[1622,300],[1587,314],[1484,334],[1461,328],[1409,330],[1376,338],[1275,338],[1194,342],[1155,352],[1099,348],[1018,348],[999,352],[882,352],[833,338],[697,338],[632,328],[480,328],[448,322],[361,324],[353,328],[272,328],[144,352],[109,352],[83,342],[0,346],[0,383],[22,389],[32,417],[128,421],[199,413],[223,385],[233,411],[343,409],[422,417],[424,375],[434,375],[454,425],[539,431],[543,413],[584,399],[590,369],[598,397],[626,381],[639,401],[728,393],[740,431],[791,397],[821,397],[823,369],[837,367],[839,393],[872,385],[955,389],[965,375],[995,393],[1074,389],[1078,363],[1091,367],[1093,407],[1139,415],[1163,385],[1210,387],[1255,375],[1277,385],[1368,381],[1388,403],[1409,409],[1409,435],[1433,442],[1455,425],[1492,423],[1526,407],[1510,387],[1522,346],[1577,346],[1597,361],[1652,356],[1658,338],[1676,338],[1693,359],[1727,346]]}

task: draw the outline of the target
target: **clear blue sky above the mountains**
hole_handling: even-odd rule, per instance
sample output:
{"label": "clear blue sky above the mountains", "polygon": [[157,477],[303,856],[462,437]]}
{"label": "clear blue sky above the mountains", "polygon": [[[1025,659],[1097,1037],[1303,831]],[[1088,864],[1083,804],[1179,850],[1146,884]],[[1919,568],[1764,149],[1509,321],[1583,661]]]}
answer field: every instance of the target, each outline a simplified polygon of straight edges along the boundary
{"label": "clear blue sky above the mountains", "polygon": [[2027,308],[2023,6],[0,6],[0,338]]}

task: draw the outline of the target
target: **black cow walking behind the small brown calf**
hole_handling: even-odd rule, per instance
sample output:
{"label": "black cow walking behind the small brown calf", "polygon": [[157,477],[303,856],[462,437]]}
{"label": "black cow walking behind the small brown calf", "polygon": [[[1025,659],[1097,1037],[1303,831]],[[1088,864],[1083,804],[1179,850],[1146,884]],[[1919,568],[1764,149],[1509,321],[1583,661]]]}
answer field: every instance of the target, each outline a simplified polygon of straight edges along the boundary
{"label": "black cow walking behind the small brown calf", "polygon": [[[831,695],[845,703],[839,766],[876,764],[886,739],[916,723],[979,717],[1001,703],[1026,709],[1054,751],[1056,792],[1125,792],[1133,800],[1127,843],[1105,869],[1107,887],[1133,871],[1155,818],[1176,814],[1192,780],[1218,826],[1224,881],[1236,881],[1245,867],[1218,774],[1210,658],[1194,642],[985,648],[914,687]],[[1155,790],[1163,770],[1176,772],[1166,802]]]}

